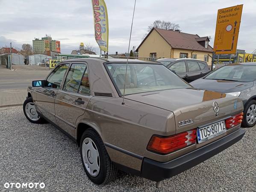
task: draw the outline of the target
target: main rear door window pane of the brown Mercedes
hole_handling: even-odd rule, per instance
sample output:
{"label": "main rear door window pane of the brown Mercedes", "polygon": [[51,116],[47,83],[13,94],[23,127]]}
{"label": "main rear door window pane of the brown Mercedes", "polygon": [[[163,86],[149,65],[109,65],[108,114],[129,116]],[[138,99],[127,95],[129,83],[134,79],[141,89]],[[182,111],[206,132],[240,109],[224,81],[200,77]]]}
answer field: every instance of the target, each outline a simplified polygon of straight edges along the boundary
{"label": "main rear door window pane of the brown Mercedes", "polygon": [[85,69],[85,64],[72,64],[68,71],[63,90],[77,93]]}

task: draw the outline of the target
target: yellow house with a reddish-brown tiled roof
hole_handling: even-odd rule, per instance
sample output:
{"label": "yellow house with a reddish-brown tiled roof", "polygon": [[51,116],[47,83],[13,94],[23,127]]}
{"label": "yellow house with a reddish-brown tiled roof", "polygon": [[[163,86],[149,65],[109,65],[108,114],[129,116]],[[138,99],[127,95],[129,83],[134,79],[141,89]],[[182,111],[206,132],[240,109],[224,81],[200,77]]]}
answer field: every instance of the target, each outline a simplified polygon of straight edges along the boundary
{"label": "yellow house with a reddish-brown tiled roof", "polygon": [[210,39],[199,35],[153,28],[136,49],[138,57],[195,58],[210,65],[213,49]]}

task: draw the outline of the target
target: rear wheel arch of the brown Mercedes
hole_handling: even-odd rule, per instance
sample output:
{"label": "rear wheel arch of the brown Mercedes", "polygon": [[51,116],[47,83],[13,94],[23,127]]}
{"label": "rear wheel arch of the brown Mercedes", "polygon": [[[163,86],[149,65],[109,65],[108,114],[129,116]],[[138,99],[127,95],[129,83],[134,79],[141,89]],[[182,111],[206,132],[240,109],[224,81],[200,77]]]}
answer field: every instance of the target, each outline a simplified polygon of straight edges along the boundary
{"label": "rear wheel arch of the brown Mercedes", "polygon": [[76,141],[77,141],[77,145],[80,147],[80,140],[82,137],[82,134],[85,132],[85,130],[87,130],[88,128],[92,128],[94,131],[97,132],[97,134],[99,134],[100,138],[103,140],[103,138],[101,137],[101,131],[100,128],[91,125],[91,123],[88,122],[79,122],[77,125],[77,131],[75,132],[75,136],[76,136]]}

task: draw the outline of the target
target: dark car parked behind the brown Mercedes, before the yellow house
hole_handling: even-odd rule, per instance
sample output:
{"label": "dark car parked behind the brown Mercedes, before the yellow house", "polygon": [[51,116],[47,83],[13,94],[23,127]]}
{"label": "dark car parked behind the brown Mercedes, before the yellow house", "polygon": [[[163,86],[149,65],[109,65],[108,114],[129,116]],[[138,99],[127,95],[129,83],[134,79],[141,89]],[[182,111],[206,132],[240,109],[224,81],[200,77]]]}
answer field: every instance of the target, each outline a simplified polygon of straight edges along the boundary
{"label": "dark car parked behind the brown Mercedes, before the yellow house", "polygon": [[192,58],[161,58],[156,60],[187,82],[199,79],[211,70],[205,61]]}

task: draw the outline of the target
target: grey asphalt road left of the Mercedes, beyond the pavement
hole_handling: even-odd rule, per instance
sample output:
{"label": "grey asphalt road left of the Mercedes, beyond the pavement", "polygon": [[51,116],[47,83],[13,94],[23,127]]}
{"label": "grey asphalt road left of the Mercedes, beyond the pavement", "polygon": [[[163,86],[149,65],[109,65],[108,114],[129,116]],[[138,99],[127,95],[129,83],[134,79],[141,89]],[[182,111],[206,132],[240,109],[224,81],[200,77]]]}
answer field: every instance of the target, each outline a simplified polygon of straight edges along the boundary
{"label": "grey asphalt road left of the Mercedes, beyond the pavement", "polygon": [[0,68],[0,90],[2,89],[25,89],[33,80],[45,79],[50,70],[44,67],[16,65],[15,71]]}

